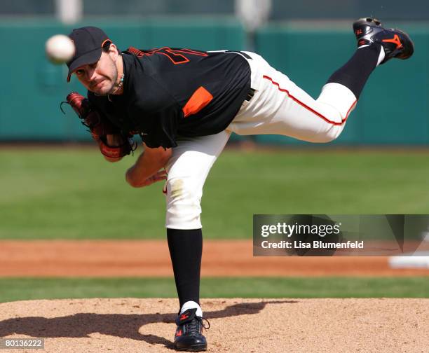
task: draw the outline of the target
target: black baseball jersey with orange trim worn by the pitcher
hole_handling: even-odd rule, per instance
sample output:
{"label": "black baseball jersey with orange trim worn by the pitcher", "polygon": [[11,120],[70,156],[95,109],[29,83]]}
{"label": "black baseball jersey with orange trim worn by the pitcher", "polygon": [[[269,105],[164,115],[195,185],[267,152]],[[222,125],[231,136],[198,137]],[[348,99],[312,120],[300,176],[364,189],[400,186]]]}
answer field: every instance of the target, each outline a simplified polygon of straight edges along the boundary
{"label": "black baseball jersey with orange trim worn by the pitcher", "polygon": [[159,48],[122,57],[123,95],[88,92],[88,99],[151,148],[225,130],[250,92],[250,66],[240,53]]}

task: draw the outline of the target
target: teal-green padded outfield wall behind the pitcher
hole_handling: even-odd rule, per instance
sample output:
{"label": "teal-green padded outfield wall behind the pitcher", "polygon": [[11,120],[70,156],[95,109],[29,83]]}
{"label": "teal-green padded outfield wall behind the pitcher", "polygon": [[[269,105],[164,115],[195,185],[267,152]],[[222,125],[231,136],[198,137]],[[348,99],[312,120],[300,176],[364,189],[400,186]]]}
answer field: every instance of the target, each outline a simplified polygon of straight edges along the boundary
{"label": "teal-green padded outfield wall behind the pitcher", "polygon": [[[143,20],[86,21],[65,27],[53,20],[3,20],[0,39],[2,85],[0,141],[86,141],[90,139],[71,109],[60,112],[67,93],[83,88],[73,78],[65,81],[67,67],[50,64],[44,55],[49,36],[67,34],[74,27],[102,27],[119,48],[176,46],[203,50],[243,50],[245,32],[226,18],[151,18]],[[256,50],[273,67],[290,76],[317,97],[332,72],[355,50],[347,24],[270,25],[256,34]],[[429,24],[404,23],[414,39],[411,60],[393,60],[377,69],[365,87],[357,109],[343,134],[332,144],[429,144],[428,58]],[[277,136],[259,136],[260,143],[305,144]]]}

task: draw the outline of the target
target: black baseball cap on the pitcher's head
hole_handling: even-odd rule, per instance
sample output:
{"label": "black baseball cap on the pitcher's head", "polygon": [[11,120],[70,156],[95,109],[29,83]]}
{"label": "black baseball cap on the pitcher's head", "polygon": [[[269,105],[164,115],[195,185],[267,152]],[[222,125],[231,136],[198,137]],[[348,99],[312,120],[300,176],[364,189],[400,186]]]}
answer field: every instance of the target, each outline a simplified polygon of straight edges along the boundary
{"label": "black baseball cap on the pitcher's head", "polygon": [[69,74],[67,74],[67,82],[70,81],[70,76],[74,70],[86,64],[93,64],[100,60],[102,48],[109,46],[111,40],[102,29],[97,27],[81,27],[73,29],[69,34],[69,38],[74,42],[76,48],[74,57],[67,62]]}

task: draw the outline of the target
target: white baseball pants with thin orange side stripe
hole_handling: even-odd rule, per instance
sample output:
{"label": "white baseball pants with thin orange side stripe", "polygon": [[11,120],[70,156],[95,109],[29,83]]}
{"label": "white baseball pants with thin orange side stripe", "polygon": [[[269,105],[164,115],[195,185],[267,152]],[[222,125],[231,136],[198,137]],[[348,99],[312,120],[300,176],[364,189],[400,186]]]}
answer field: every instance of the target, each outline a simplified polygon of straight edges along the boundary
{"label": "white baseball pants with thin orange side stripe", "polygon": [[290,79],[255,53],[245,52],[252,71],[250,102],[245,101],[236,118],[223,132],[182,138],[173,148],[165,169],[167,213],[172,229],[201,228],[200,201],[207,174],[222,152],[231,132],[282,134],[310,142],[329,142],[339,137],[356,97],[339,83],[327,83],[313,99]]}

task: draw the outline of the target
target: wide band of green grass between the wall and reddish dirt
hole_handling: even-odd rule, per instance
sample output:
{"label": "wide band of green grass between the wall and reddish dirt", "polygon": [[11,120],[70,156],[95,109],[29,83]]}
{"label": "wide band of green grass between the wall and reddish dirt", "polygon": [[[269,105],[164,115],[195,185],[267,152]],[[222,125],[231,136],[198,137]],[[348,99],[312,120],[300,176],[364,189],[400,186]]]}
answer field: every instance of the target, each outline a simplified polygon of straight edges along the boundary
{"label": "wide band of green grass between the wall and reddish dirt", "polygon": [[[164,238],[162,183],[125,184],[136,157],[0,149],[0,238]],[[203,195],[205,238],[252,237],[252,214],[429,214],[428,153],[224,151]]]}

